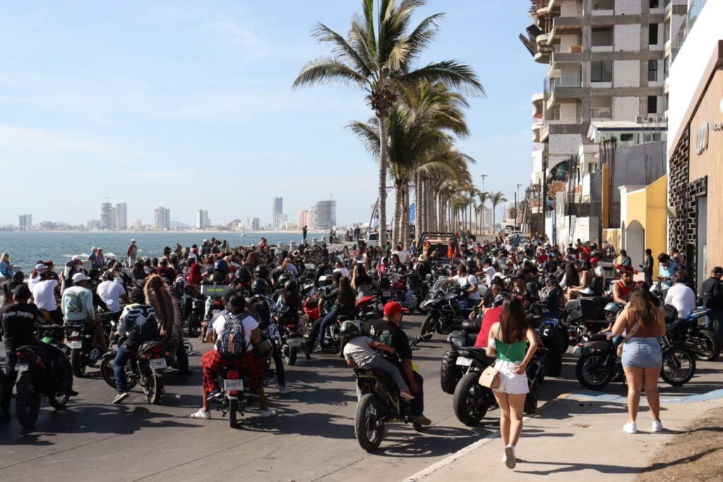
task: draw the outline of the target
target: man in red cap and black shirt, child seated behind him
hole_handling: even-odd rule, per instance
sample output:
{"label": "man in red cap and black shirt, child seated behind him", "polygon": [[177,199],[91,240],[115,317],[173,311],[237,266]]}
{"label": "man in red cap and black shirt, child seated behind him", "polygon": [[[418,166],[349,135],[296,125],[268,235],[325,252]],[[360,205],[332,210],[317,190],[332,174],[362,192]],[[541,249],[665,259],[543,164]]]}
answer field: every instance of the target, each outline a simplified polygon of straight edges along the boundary
{"label": "man in red cap and black shirt, child seated behind him", "polygon": [[417,423],[429,425],[432,421],[424,416],[424,392],[422,390],[424,379],[422,375],[412,369],[409,338],[401,329],[402,316],[406,311],[407,309],[403,308],[401,304],[390,301],[384,305],[384,319],[369,320],[361,327],[361,331],[372,339],[395,348],[395,353],[384,352],[382,356],[401,371],[409,385],[409,390],[414,394],[414,400],[410,402],[411,415],[416,417]]}

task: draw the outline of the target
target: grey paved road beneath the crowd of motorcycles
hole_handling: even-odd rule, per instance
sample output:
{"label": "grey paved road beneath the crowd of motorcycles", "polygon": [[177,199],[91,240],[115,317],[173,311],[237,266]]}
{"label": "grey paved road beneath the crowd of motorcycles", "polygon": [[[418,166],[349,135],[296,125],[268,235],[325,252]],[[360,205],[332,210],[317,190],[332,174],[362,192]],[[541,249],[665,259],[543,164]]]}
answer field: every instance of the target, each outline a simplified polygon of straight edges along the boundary
{"label": "grey paved road beneath the crowd of motorcycles", "polygon": [[[416,334],[421,317],[408,317],[408,333]],[[208,345],[194,342],[197,350]],[[354,379],[341,359],[316,356],[291,367],[289,395],[268,388],[279,416],[262,420],[248,411],[239,428],[213,412],[210,421],[188,418],[200,404],[200,356],[191,358],[195,374],[167,387],[162,405],[147,405],[132,392],[124,405],[111,405],[111,390],[90,370],[77,380],[79,397],[68,409],[43,408],[37,429],[23,431],[17,422],[0,426],[0,480],[130,481],[151,477],[190,480],[239,478],[274,481],[398,481],[448,457],[496,430],[497,410],[474,429],[455,418],[452,396],[439,387],[439,366],[446,342],[440,335],[414,352],[425,379],[426,415],[433,425],[424,434],[411,426],[388,427],[376,455],[361,450],[354,439]],[[4,356],[3,350],[0,354]],[[568,355],[569,356],[569,355]],[[541,404],[560,393],[581,390],[574,381],[574,358],[568,358],[564,379],[548,379]],[[664,387],[667,395],[690,395],[719,388],[714,363],[701,363],[687,387]],[[171,381],[173,382],[173,381]],[[621,384],[607,392],[623,395]]]}

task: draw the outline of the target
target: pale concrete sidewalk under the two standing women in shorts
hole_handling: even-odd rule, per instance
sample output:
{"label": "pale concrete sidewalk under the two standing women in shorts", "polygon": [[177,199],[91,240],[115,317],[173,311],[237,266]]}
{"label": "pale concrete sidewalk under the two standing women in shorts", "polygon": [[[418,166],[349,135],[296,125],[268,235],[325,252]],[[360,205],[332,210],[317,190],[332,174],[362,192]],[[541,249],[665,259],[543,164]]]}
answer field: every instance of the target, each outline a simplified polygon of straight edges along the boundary
{"label": "pale concrete sidewalk under the two standing women in shorts", "polygon": [[[462,449],[406,481],[552,480],[633,481],[650,465],[657,450],[675,434],[711,408],[723,406],[716,398],[693,403],[662,405],[664,431],[651,433],[645,397],[638,415],[638,434],[625,434],[625,403],[562,395],[539,414],[526,418],[518,444],[517,467],[502,463],[499,432]],[[496,412],[493,412],[496,413]],[[483,422],[497,424],[495,419]],[[681,454],[681,457],[685,455]]]}

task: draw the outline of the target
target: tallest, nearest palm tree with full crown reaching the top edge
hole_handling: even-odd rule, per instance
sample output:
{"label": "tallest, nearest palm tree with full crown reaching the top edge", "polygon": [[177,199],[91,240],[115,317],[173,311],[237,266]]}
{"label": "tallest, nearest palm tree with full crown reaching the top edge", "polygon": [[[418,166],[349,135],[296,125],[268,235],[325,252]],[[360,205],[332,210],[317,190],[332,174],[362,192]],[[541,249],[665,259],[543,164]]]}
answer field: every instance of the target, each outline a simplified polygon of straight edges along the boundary
{"label": "tallest, nearest palm tree with full crown reaching the top edge", "polygon": [[380,127],[379,243],[386,243],[387,229],[387,116],[401,90],[426,80],[484,95],[474,71],[455,60],[433,62],[414,69],[414,63],[437,34],[442,14],[433,14],[411,28],[411,15],[424,0],[380,0],[377,18],[374,0],[362,0],[362,14],[355,15],[346,38],[319,23],[312,35],[331,46],[332,55],[306,64],[294,87],[336,82],[367,92],[367,103]]}

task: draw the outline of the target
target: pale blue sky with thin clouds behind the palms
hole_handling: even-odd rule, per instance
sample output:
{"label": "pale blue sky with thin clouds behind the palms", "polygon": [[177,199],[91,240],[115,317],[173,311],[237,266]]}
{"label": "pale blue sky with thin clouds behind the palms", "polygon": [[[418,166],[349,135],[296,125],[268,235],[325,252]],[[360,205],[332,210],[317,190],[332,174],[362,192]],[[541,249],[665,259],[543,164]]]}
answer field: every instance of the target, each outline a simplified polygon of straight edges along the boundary
{"label": "pale blue sky with thin clouds behind the palms", "polygon": [[[487,98],[471,99],[472,135],[459,142],[513,199],[529,184],[531,95],[544,69],[518,40],[523,0],[430,0],[416,20],[445,12],[423,63],[459,59]],[[333,196],[338,222],[367,221],[377,168],[346,125],[372,112],[356,90],[292,90],[327,53],[315,22],[346,33],[356,0],[24,1],[0,12],[0,225],[85,223],[104,197],[129,221],[158,205],[192,223],[270,222]],[[523,187],[524,189],[524,187]],[[393,199],[390,199],[390,204]],[[390,210],[391,212],[391,210]]]}

